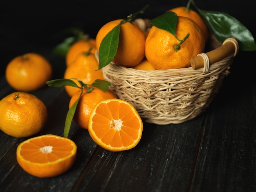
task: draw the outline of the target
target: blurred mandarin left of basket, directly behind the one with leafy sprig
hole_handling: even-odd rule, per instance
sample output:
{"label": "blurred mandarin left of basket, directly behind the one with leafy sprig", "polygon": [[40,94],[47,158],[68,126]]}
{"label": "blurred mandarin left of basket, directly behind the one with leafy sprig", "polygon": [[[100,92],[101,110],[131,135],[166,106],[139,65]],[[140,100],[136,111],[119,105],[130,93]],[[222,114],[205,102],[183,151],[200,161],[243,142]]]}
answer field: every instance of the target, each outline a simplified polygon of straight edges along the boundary
{"label": "blurred mandarin left of basket, directly behind the one with leafy sprig", "polygon": [[[96,79],[104,80],[103,73],[101,69],[98,70],[98,68],[99,63],[93,53],[90,51],[80,52],[76,56],[74,62],[66,68],[64,78],[77,78],[83,81],[83,83],[91,85]],[[74,80],[74,82],[79,85],[77,80]],[[80,89],[76,87],[65,86],[65,90],[71,97]]]}

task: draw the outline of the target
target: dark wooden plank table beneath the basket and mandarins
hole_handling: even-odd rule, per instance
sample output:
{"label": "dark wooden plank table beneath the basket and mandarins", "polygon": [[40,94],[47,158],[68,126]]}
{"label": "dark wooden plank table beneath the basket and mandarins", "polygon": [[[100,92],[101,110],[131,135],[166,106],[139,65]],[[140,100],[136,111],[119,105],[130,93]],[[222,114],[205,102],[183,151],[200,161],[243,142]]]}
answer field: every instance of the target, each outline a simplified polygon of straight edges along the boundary
{"label": "dark wooden plank table beneath the basket and mandarins", "polygon": [[[253,28],[252,25],[247,26]],[[13,36],[14,31],[6,34]],[[27,38],[25,35],[23,37]],[[26,40],[22,39],[8,44],[9,47],[2,47],[5,62],[17,53],[35,51],[52,63],[53,78],[62,78],[65,60],[52,55],[55,42],[49,44],[49,40],[46,40],[44,44],[42,39],[35,41],[32,37],[25,45],[22,43]],[[1,39],[7,45],[5,38]],[[18,46],[22,50],[18,51]],[[144,122],[141,141],[132,150],[104,150],[92,141],[87,130],[72,123],[70,138],[78,147],[77,158],[70,170],[54,178],[40,179],[22,170],[16,161],[16,147],[27,138],[14,138],[0,132],[0,191],[254,192],[254,65],[255,51],[239,51],[231,65],[231,73],[224,79],[206,112],[180,124],[155,125]],[[0,99],[14,91],[1,71]],[[45,129],[37,135],[63,136],[70,100],[64,88],[46,86],[31,94],[40,98],[48,110]]]}

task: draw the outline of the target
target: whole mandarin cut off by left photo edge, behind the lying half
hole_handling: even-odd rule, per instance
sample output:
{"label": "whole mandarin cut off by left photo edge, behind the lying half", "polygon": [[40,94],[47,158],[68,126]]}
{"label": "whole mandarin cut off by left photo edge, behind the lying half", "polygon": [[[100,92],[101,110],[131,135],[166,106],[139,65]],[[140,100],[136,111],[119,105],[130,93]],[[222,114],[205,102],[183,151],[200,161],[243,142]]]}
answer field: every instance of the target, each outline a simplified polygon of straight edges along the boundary
{"label": "whole mandarin cut off by left photo edge, behind the lying half", "polygon": [[0,100],[0,129],[13,137],[40,132],[47,121],[47,108],[36,96],[13,92]]}

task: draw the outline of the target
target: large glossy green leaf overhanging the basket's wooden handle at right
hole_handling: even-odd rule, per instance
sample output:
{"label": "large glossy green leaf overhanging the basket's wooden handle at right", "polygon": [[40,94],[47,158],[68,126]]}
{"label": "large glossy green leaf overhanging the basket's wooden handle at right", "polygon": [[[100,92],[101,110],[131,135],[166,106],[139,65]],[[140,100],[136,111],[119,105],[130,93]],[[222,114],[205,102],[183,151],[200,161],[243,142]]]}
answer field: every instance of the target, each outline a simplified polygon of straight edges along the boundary
{"label": "large glossy green leaf overhanging the basket's wooden handle at right", "polygon": [[239,49],[243,51],[256,50],[252,33],[236,18],[222,12],[200,9],[198,11],[218,41],[224,42],[227,38],[235,37],[238,40]]}

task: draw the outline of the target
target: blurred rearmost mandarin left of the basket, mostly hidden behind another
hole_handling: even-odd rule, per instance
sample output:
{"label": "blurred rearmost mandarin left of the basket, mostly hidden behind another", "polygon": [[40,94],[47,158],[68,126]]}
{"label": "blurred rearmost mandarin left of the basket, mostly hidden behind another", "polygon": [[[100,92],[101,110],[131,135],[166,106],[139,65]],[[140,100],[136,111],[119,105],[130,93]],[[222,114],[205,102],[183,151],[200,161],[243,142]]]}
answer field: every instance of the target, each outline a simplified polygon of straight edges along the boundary
{"label": "blurred rearmost mandarin left of the basket, mostly hidden behind another", "polygon": [[88,51],[92,47],[92,54],[95,53],[95,39],[89,38],[88,40],[82,39],[76,41],[73,45],[71,45],[70,49],[67,51],[66,55],[66,65],[69,66],[76,58],[77,54],[80,52]]}

